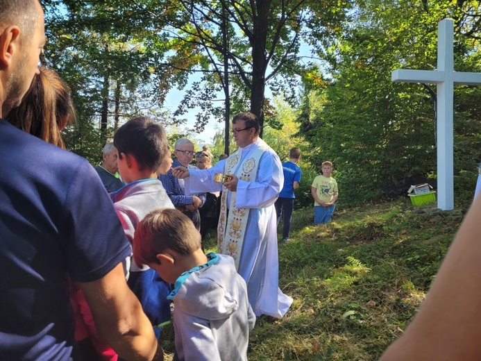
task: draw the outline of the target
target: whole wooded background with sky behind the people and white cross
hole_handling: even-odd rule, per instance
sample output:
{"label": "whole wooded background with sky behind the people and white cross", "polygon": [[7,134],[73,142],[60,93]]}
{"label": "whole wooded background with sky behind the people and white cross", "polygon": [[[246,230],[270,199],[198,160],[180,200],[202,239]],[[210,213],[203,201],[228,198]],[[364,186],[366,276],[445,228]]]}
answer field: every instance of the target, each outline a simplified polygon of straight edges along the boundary
{"label": "whole wooded background with sky behind the people and white cross", "polygon": [[[321,162],[335,164],[339,205],[384,186],[436,177],[436,88],[392,83],[394,69],[435,69],[437,24],[455,24],[455,70],[480,72],[479,1],[44,0],[42,63],[71,87],[67,148],[96,164],[121,124],[160,122],[173,146],[215,127],[214,156],[235,149],[229,119],[260,117],[287,160],[303,151],[297,205],[312,202]],[[310,53],[301,48],[307,46]],[[169,92],[183,90],[176,110]],[[472,198],[481,158],[480,87],[455,87],[455,205]],[[196,110],[193,126],[187,118]],[[192,123],[192,122],[190,122]]]}

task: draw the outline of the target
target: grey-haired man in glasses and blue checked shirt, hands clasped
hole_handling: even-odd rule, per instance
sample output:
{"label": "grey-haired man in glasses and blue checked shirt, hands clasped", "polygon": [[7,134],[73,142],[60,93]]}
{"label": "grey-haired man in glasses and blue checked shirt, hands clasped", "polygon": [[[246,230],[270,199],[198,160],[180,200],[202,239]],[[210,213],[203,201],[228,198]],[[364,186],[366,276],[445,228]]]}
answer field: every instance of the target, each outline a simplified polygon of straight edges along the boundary
{"label": "grey-haired man in glasses and blue checked shirt, hands clasped", "polygon": [[[176,142],[174,146],[174,156],[176,160],[172,163],[174,167],[185,167],[197,169],[194,165],[190,165],[194,158],[194,144],[185,138],[181,138]],[[197,230],[201,230],[201,215],[199,214],[199,208],[205,202],[205,193],[199,193],[196,195],[187,195],[185,193],[184,180],[176,178],[172,171],[165,175],[159,176],[162,185],[164,185],[165,191],[169,196],[174,206],[183,212],[187,217],[192,219],[194,226]]]}

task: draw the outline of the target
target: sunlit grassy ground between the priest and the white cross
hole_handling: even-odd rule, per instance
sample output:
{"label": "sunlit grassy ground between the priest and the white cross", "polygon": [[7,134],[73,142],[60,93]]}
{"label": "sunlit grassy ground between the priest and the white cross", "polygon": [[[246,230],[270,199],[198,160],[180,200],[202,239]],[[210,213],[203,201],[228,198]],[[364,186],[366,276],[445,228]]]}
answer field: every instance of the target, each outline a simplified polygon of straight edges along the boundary
{"label": "sunlit grassy ground between the priest and the white cross", "polygon": [[[294,303],[283,319],[258,318],[248,360],[379,358],[419,308],[464,214],[406,202],[336,210],[319,226],[312,209],[294,212],[292,241],[279,245],[280,288]],[[162,332],[168,360],[174,333]]]}

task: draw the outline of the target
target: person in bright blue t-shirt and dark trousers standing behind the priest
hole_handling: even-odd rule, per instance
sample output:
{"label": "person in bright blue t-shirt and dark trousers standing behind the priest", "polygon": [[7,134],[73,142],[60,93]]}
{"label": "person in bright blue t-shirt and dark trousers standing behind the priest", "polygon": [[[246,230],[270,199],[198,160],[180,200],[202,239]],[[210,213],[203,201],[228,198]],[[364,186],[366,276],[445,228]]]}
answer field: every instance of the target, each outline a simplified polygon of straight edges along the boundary
{"label": "person in bright blue t-shirt and dark trousers standing behind the priest", "polygon": [[289,151],[289,162],[282,163],[282,171],[284,171],[284,187],[279,193],[279,198],[274,205],[276,206],[277,224],[279,224],[280,216],[284,227],[282,229],[282,243],[289,241],[289,233],[291,232],[292,212],[294,211],[294,190],[301,183],[302,171],[297,166],[301,159],[301,149],[294,147]]}

